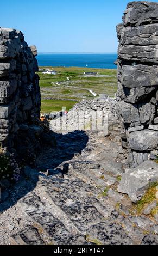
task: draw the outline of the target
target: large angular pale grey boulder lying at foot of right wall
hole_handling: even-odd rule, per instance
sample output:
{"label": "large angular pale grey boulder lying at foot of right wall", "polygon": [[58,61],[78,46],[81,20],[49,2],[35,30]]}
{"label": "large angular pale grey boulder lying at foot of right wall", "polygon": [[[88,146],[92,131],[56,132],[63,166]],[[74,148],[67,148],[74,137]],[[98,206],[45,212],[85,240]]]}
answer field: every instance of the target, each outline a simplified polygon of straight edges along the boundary
{"label": "large angular pale grey boulder lying at foot of right wall", "polygon": [[138,202],[153,182],[158,181],[158,165],[146,161],[122,174],[118,192],[128,194],[133,203]]}

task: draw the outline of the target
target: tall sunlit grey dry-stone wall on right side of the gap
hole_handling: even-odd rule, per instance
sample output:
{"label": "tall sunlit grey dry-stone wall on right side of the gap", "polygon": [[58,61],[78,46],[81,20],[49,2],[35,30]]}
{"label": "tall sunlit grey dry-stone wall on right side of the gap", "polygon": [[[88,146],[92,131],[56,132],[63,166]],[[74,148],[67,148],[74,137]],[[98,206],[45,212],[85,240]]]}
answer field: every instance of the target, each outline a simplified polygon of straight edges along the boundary
{"label": "tall sunlit grey dry-stone wall on right side of the gap", "polygon": [[158,3],[129,3],[117,35],[122,144],[137,167],[158,149]]}

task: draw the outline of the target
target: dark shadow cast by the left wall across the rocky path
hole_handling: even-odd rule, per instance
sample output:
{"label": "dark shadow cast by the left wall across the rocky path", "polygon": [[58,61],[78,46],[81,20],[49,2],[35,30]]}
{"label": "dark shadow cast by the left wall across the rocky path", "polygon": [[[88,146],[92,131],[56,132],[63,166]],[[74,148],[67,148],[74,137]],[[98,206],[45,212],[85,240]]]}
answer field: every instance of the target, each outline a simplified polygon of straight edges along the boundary
{"label": "dark shadow cast by the left wall across the rocky path", "polygon": [[50,138],[52,135],[55,137],[55,147],[50,144],[43,145],[34,166],[28,165],[23,169],[21,179],[17,184],[1,191],[0,212],[14,206],[20,198],[33,191],[39,181],[39,175],[64,178],[63,174],[68,172],[68,166],[64,164],[63,170],[58,166],[73,159],[75,155],[81,154],[89,141],[84,131],[74,131],[65,135],[50,131],[49,135]]}

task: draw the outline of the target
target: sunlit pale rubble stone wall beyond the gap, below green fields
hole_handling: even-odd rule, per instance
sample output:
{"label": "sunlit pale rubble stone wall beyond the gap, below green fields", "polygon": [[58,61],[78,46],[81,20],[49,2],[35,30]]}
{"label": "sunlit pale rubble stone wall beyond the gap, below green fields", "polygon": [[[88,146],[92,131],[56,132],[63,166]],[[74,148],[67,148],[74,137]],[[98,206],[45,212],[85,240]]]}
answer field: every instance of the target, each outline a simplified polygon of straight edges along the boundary
{"label": "sunlit pale rubble stone wall beyond the gap, below green fields", "polygon": [[52,131],[94,131],[104,136],[111,131],[119,130],[117,117],[117,101],[110,97],[98,97],[93,100],[82,100],[67,115],[50,121]]}

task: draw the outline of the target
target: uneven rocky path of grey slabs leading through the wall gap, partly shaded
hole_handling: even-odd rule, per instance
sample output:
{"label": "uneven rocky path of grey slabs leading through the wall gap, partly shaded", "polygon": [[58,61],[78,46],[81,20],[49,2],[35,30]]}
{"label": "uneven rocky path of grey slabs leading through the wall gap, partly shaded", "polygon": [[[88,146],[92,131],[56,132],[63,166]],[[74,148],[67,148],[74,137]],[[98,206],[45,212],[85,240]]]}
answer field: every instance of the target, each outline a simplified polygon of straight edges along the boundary
{"label": "uneven rocky path of grey slabs leading through the wall gap, partly shaded", "polygon": [[46,148],[36,168],[26,167],[2,194],[0,244],[158,243],[158,225],[131,212],[129,198],[117,192],[124,163],[118,135],[75,131],[56,139],[56,149]]}

